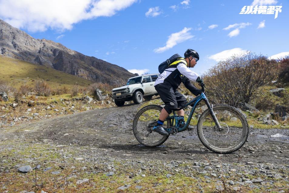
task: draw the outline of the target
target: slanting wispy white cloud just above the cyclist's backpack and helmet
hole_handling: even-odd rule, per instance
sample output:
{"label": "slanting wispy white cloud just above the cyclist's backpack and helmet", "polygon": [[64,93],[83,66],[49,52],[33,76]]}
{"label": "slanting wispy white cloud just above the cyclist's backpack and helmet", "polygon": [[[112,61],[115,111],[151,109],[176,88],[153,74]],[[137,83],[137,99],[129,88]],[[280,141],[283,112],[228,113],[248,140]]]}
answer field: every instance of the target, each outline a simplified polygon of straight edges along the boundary
{"label": "slanting wispy white cloud just above the cyclist's backpack and helmet", "polygon": [[162,53],[166,50],[171,49],[172,47],[174,47],[175,45],[177,45],[178,43],[181,43],[183,41],[189,40],[191,38],[193,38],[194,36],[191,35],[191,33],[189,32],[192,28],[184,28],[182,31],[180,32],[176,32],[176,33],[172,33],[168,38],[168,40],[166,41],[166,45],[164,47],[159,47],[154,49],[153,51],[155,53]]}

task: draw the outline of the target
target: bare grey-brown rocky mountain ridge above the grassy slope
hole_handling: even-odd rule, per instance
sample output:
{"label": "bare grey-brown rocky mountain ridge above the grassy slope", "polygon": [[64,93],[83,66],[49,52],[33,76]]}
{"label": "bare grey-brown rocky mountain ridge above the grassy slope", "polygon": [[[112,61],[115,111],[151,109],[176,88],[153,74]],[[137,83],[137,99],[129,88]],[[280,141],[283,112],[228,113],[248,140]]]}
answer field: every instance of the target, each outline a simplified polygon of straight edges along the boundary
{"label": "bare grey-brown rocky mountain ridge above the grassy slope", "polygon": [[111,76],[136,76],[123,67],[83,55],[51,40],[39,40],[0,19],[0,55],[44,65],[90,81],[114,84]]}

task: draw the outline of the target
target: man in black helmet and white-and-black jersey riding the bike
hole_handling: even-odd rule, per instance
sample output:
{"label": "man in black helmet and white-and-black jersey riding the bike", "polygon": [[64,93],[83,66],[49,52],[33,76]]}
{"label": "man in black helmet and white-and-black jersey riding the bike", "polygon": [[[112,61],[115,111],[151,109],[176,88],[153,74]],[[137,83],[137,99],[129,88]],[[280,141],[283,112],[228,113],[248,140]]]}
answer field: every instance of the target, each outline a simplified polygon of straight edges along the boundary
{"label": "man in black helmet and white-and-black jersey riding the bike", "polygon": [[[197,61],[200,59],[199,54],[195,50],[187,49],[184,56],[184,58],[179,58],[170,64],[156,79],[154,85],[160,98],[165,103],[165,106],[160,113],[156,126],[153,127],[153,131],[164,136],[169,135],[169,133],[163,128],[163,122],[173,109],[180,109],[180,107],[184,106],[187,102],[186,98],[176,90],[181,82],[183,82],[185,87],[196,96],[202,92],[190,83],[191,80],[203,84],[202,78],[188,68],[194,67],[197,64]],[[177,114],[179,116],[180,127],[183,127],[185,124],[185,111],[181,109],[177,111]]]}

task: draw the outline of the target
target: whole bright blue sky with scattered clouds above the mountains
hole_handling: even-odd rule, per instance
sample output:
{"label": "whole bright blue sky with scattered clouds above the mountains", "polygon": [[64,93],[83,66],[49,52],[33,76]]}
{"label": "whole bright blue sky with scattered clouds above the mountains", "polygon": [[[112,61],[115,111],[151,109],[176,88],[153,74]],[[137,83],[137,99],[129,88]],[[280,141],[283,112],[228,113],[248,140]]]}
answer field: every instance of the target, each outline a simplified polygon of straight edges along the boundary
{"label": "whole bright blue sky with scattered clouds above the mountains", "polygon": [[[245,5],[281,5],[282,11],[276,19],[239,14]],[[34,38],[139,74],[156,73],[171,55],[194,49],[200,60],[191,70],[202,74],[245,50],[268,57],[289,54],[288,5],[287,0],[0,0],[0,18]]]}

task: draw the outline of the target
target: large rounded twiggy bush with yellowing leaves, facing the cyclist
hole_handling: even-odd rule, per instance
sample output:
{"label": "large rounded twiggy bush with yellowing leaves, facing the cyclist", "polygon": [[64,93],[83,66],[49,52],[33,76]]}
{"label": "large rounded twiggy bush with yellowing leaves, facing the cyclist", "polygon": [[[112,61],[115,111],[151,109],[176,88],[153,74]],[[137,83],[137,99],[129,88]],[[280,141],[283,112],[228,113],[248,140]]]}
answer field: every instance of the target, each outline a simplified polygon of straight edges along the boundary
{"label": "large rounded twiggy bush with yellowing leaves, facing the cyclist", "polygon": [[220,61],[204,75],[206,93],[215,104],[249,103],[260,86],[277,76],[276,60],[247,52]]}

